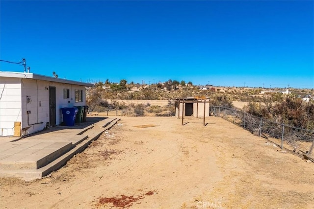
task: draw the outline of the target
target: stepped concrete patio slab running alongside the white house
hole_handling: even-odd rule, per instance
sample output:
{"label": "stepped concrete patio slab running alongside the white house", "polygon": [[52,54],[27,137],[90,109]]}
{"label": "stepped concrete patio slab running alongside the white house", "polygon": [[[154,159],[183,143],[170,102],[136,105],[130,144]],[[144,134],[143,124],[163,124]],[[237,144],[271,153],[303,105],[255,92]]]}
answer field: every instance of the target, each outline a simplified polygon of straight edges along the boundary
{"label": "stepped concrete patio slab running alongside the white house", "polygon": [[0,138],[0,177],[41,178],[62,167],[119,120],[97,116],[86,123],[53,127],[27,138]]}

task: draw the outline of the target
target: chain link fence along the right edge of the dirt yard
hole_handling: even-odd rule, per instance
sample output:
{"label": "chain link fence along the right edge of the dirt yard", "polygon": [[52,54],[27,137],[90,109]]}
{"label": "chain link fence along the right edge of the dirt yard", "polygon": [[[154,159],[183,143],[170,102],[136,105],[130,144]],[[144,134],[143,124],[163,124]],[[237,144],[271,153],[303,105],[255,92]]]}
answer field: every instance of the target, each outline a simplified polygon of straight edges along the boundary
{"label": "chain link fence along the right edge of the dirt yard", "polygon": [[272,141],[281,149],[290,150],[314,161],[314,130],[289,126],[226,107],[211,106],[210,113],[212,116],[233,122],[256,136]]}

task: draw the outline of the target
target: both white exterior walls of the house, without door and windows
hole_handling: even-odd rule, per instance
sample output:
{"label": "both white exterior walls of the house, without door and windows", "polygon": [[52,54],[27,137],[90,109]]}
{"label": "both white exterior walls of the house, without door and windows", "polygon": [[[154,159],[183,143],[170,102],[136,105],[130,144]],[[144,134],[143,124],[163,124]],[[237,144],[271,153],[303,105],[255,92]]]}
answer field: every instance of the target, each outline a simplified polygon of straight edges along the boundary
{"label": "both white exterior walls of the house, without door and windows", "polygon": [[[22,136],[48,127],[50,86],[55,87],[56,125],[63,122],[61,108],[86,105],[85,86],[27,78],[1,77],[0,136],[13,136],[14,122],[21,122]],[[64,89],[69,90],[69,98],[64,98]],[[81,102],[75,102],[75,90],[82,90]]]}

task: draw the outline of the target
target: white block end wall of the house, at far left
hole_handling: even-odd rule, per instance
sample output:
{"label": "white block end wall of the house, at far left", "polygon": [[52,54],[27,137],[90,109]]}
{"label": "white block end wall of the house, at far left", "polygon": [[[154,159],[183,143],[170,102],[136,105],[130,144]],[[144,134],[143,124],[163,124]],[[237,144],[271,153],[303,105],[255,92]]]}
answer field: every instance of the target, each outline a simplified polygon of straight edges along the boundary
{"label": "white block end wall of the house, at far left", "polygon": [[21,78],[0,79],[0,136],[13,136],[21,121]]}

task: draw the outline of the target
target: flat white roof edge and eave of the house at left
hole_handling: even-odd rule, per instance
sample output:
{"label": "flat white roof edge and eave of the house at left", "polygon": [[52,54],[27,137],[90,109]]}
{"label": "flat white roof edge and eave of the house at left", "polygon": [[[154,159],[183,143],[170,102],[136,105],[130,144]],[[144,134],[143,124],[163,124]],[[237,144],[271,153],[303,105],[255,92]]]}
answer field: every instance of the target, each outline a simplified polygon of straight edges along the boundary
{"label": "flat white roof edge and eave of the house at left", "polygon": [[27,78],[27,79],[51,81],[51,82],[57,82],[57,83],[74,84],[78,86],[89,86],[89,87],[94,86],[91,83],[78,82],[78,81],[67,80],[67,79],[62,79],[62,78],[54,78],[54,77],[34,74],[30,72],[0,71],[0,77]]}

